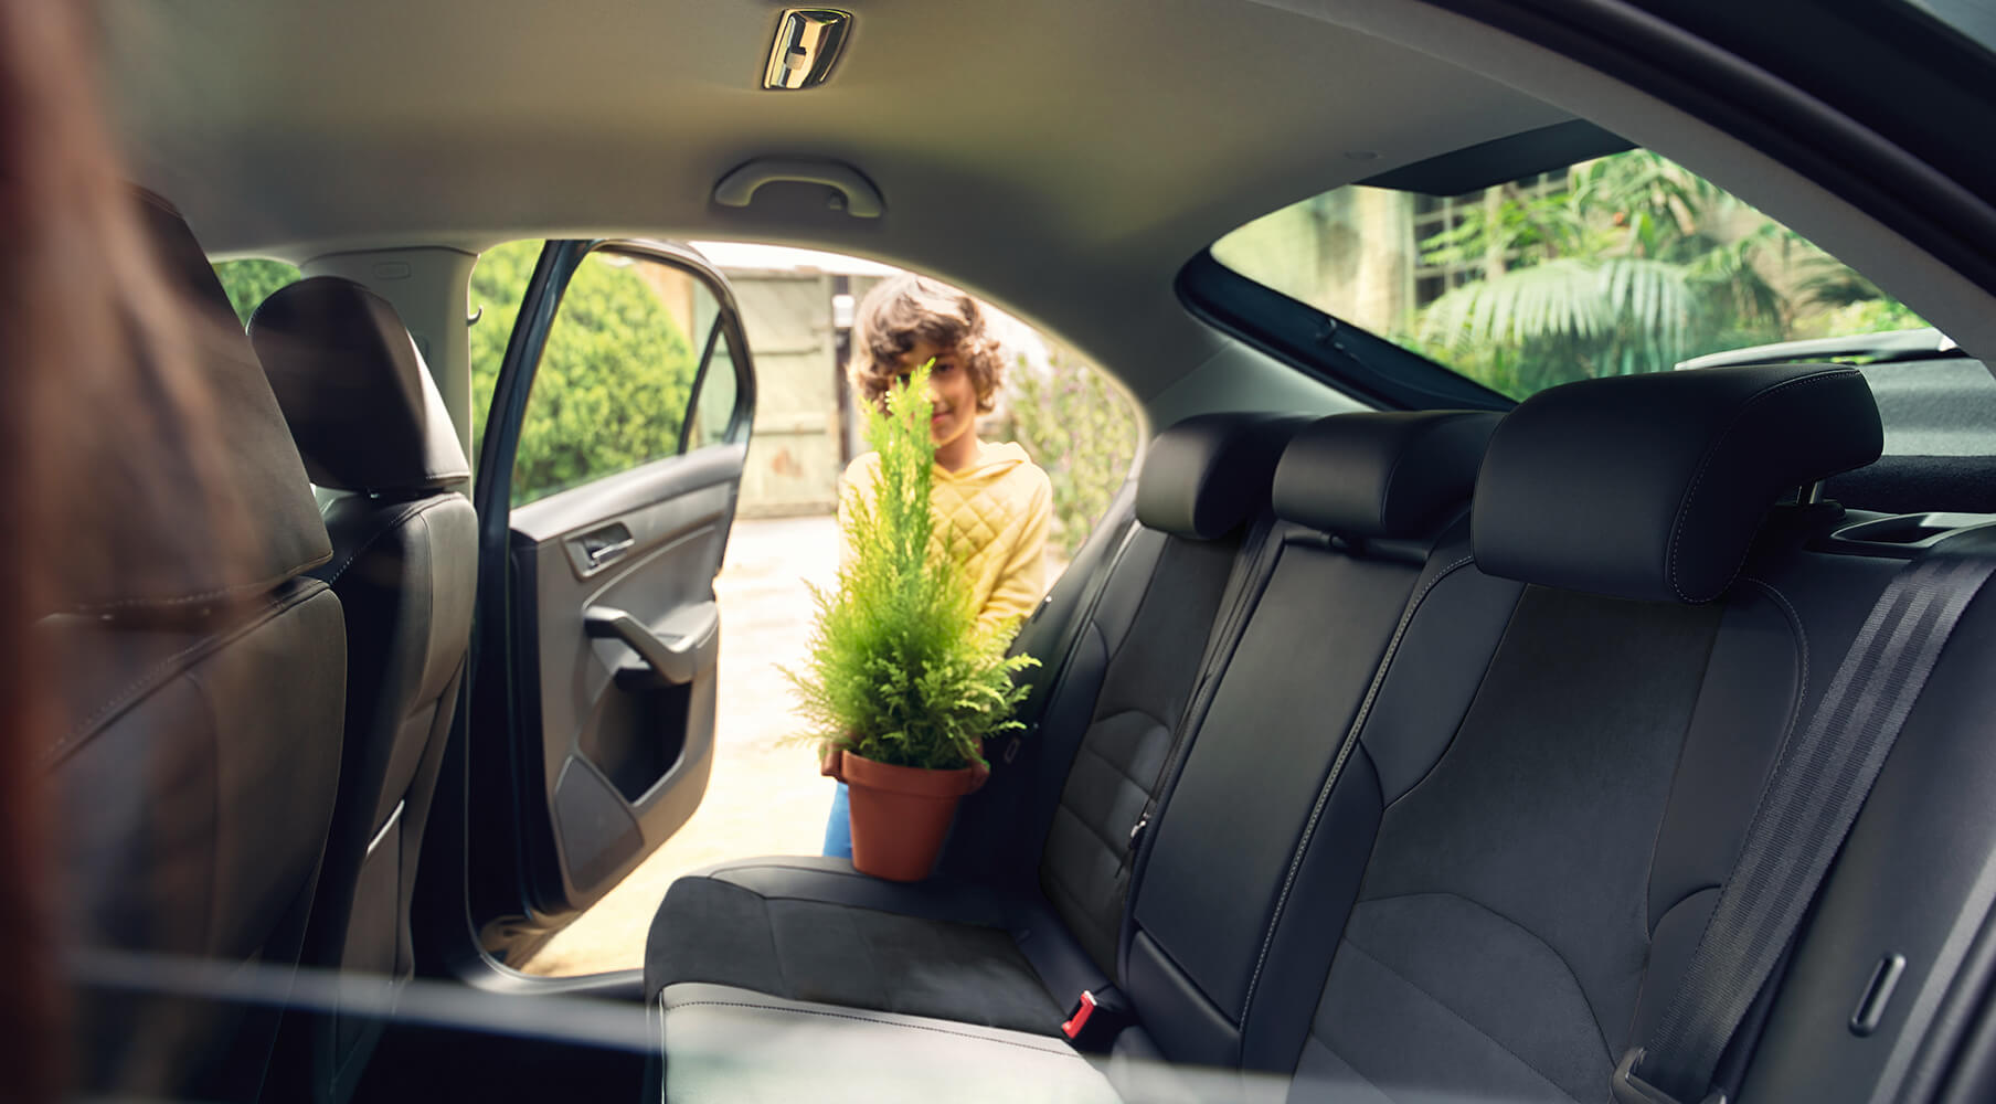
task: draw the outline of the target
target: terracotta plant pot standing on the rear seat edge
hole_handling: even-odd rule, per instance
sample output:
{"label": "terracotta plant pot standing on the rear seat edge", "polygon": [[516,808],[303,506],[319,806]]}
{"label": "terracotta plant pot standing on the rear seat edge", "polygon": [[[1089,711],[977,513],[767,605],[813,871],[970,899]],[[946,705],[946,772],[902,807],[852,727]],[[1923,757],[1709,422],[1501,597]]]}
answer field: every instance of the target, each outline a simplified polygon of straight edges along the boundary
{"label": "terracotta plant pot standing on the rear seat edge", "polygon": [[976,793],[990,771],[888,767],[834,751],[826,775],[852,791],[852,868],[892,882],[918,882],[936,866],[956,803]]}

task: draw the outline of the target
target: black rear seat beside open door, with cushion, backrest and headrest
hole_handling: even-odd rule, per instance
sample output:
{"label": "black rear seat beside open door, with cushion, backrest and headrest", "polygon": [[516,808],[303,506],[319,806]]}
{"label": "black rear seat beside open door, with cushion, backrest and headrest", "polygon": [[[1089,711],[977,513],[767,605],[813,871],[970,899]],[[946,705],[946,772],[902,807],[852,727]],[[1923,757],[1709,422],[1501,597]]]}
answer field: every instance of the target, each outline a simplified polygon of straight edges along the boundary
{"label": "black rear seat beside open door, with cushion, backrest and headrest", "polygon": [[1216,415],[1152,443],[1138,483],[1140,525],[1110,565],[1046,709],[1042,739],[1070,745],[1072,771],[1050,823],[1016,827],[1046,836],[1038,884],[902,886],[834,858],[727,862],[673,882],[647,944],[647,992],[721,982],[1058,1030],[1066,1002],[1056,994],[1104,988],[1114,970],[1124,840],[1164,777],[1216,621],[1246,583],[1249,521],[1265,511],[1295,425]]}

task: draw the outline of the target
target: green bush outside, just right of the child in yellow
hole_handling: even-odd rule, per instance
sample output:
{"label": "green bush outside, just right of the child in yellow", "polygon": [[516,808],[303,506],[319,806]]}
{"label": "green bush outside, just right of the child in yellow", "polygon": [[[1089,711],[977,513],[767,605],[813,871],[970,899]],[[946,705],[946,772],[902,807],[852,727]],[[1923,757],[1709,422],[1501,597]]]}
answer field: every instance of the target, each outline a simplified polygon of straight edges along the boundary
{"label": "green bush outside, just right of the child in yellow", "polygon": [[1018,441],[1054,485],[1046,541],[1062,561],[1074,559],[1108,511],[1130,475],[1138,443],[1136,413],[1108,377],[1066,359],[1048,349],[1044,375],[1018,359],[1006,375],[1006,415],[998,429]]}

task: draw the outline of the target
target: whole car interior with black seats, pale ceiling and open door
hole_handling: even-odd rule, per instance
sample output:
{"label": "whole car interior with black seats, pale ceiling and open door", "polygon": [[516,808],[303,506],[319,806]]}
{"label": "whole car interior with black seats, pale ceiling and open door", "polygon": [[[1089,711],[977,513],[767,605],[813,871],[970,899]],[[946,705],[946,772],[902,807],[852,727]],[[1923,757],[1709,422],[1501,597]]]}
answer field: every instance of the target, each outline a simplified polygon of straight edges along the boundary
{"label": "whole car interior with black seats, pale ceiling and open door", "polygon": [[[38,625],[80,1094],[1996,1094],[1986,16],[98,10],[251,525]],[[1228,248],[1339,188],[1629,150],[1916,329],[1509,387]],[[1339,234],[1323,264],[1383,264]],[[715,769],[758,377],[699,240],[948,279],[1108,371],[1148,445],[1020,629],[1026,731],[930,878],[743,854],[671,884],[641,970],[529,976]],[[545,246],[475,403],[467,285],[509,242]],[[232,258],[303,277],[246,327]],[[523,495],[599,264],[695,303],[677,443]],[[162,545],[114,509],[88,539]]]}

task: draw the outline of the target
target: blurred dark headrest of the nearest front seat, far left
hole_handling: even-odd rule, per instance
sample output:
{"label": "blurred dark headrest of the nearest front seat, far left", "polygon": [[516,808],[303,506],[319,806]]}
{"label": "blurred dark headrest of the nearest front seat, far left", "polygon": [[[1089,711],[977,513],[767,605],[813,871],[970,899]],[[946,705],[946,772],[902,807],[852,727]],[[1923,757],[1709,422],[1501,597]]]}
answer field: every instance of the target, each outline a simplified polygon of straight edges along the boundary
{"label": "blurred dark headrest of the nearest front seat, far left", "polygon": [[[172,389],[134,387],[130,411],[94,423],[108,439],[74,443],[88,493],[64,507],[64,537],[88,551],[56,571],[50,597],[70,611],[198,613],[265,593],[333,549],[216,270],[172,204],[136,198],[198,383],[186,391],[186,417]],[[134,355],[156,349],[136,345]]]}

